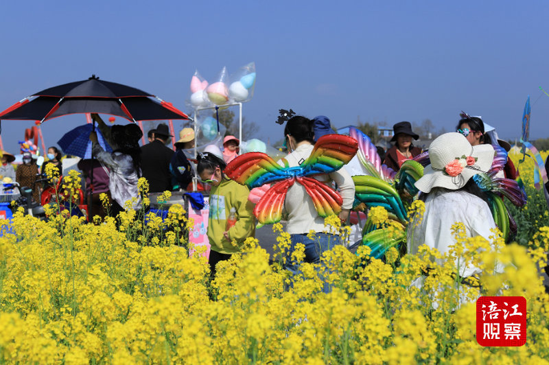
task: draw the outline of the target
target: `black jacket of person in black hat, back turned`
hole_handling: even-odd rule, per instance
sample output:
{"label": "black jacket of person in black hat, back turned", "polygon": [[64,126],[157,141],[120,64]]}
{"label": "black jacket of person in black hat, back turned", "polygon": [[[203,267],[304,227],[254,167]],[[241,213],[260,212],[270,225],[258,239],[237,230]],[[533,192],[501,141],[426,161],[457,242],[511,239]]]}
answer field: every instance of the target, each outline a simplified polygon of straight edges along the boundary
{"label": "black jacket of person in black hat, back turned", "polygon": [[167,148],[158,139],[141,147],[141,170],[149,182],[151,193],[172,191],[170,161],[173,155],[174,150]]}

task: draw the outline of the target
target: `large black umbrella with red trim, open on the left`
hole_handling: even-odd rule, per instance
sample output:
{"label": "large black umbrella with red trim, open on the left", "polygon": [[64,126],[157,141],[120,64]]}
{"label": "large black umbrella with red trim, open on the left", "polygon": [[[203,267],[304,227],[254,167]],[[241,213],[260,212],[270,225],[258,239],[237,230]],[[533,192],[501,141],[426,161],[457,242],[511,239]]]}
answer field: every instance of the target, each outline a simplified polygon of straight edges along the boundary
{"label": "large black umbrella with red trim, open on the left", "polygon": [[[154,98],[154,99],[152,99]],[[117,115],[130,121],[190,119],[171,103],[131,86],[100,80],[69,82],[34,93],[0,113],[0,119],[36,120],[75,113]]]}

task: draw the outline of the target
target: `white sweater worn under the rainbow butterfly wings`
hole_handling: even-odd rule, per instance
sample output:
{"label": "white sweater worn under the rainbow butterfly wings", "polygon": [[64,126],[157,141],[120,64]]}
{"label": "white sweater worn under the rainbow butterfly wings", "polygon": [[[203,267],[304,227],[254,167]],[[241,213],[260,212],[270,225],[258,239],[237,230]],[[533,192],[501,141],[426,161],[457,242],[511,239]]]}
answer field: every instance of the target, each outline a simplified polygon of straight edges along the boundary
{"label": "white sweater worn under the rainbow butterfly wings", "polygon": [[[313,148],[313,145],[300,145],[294,152],[285,156],[288,165],[290,167],[299,166],[300,163],[307,160]],[[280,160],[278,163],[282,167],[284,166],[283,161]],[[351,209],[353,207],[355,184],[351,175],[349,175],[344,167],[330,174],[316,175],[314,178],[323,183],[329,183],[332,180],[335,181],[343,198],[342,208]],[[300,183],[296,182],[288,189],[284,201],[284,211],[288,213],[286,231],[290,235],[309,233],[311,230],[314,232],[325,231],[324,218],[318,215],[312,198]]]}

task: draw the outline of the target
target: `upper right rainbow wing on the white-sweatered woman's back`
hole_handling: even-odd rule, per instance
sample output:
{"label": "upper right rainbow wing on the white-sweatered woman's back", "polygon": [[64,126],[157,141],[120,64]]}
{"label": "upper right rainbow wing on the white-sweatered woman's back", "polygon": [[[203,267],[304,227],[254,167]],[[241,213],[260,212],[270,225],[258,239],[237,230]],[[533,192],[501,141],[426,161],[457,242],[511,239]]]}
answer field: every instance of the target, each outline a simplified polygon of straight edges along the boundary
{"label": "upper right rainbow wing on the white-sweatered woman's back", "polygon": [[299,167],[296,176],[329,174],[349,163],[358,150],[358,142],[342,134],[326,134],[314,144],[311,155]]}

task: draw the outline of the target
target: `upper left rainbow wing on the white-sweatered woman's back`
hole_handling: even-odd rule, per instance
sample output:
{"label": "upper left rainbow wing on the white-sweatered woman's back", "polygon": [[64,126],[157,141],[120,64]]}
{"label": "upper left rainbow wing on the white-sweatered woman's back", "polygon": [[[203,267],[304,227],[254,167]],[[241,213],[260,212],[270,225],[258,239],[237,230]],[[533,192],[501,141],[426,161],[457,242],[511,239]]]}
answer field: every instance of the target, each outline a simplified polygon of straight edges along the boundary
{"label": "upper left rainbow wing on the white-sweatered woman's back", "polygon": [[252,189],[292,177],[292,169],[281,167],[262,152],[248,152],[237,156],[224,172],[237,183]]}

